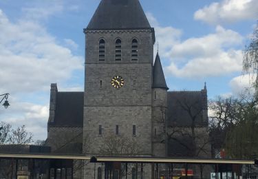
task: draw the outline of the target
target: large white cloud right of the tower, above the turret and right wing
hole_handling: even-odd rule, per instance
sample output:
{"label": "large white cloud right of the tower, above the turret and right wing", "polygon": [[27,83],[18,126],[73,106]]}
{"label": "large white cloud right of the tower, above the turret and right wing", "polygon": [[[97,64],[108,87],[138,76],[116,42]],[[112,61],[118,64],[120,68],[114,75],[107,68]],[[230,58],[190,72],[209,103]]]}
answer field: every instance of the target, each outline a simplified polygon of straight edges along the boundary
{"label": "large white cloud right of the tower, above the turret and right wing", "polygon": [[[166,74],[181,78],[222,76],[242,70],[242,52],[237,50],[243,37],[233,30],[217,26],[215,32],[181,41],[181,30],[161,27],[150,13],[147,17],[155,28],[160,55],[169,59]],[[155,52],[155,51],[154,51]]]}

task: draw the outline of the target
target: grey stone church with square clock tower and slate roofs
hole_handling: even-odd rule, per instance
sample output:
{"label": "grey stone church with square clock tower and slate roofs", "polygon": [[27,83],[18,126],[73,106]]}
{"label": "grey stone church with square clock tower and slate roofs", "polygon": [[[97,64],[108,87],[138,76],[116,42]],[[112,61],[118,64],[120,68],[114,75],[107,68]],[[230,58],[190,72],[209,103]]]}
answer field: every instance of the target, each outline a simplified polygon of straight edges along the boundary
{"label": "grey stone church with square clock tower and slate roofs", "polygon": [[[153,56],[154,28],[138,0],[100,1],[84,33],[85,91],[58,92],[51,84],[46,143],[52,152],[210,155],[203,147],[208,140],[206,85],[195,92],[169,91],[160,56]],[[83,167],[85,176],[90,168]]]}

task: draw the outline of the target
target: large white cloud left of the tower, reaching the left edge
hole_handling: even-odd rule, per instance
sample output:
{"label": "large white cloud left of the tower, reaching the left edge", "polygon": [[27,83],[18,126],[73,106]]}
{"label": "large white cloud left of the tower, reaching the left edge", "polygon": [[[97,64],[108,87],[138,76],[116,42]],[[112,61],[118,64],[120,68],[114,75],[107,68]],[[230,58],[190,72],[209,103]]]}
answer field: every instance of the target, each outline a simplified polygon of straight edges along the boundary
{"label": "large white cloud left of the tower, reaching the left edge", "polygon": [[74,70],[83,70],[83,56],[74,56],[56,43],[39,23],[12,23],[0,10],[0,83],[10,93],[49,89],[61,83]]}

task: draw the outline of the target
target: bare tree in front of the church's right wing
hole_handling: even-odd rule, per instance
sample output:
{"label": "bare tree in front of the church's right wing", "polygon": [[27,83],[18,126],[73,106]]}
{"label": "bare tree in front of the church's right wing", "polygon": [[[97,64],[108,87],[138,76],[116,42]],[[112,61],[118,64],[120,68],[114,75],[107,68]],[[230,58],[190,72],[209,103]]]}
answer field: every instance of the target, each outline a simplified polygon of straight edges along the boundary
{"label": "bare tree in front of the church's right wing", "polygon": [[[191,97],[191,96],[190,96]],[[202,98],[190,98],[183,96],[176,98],[176,104],[180,107],[182,113],[185,115],[179,120],[184,120],[184,125],[175,125],[170,123],[168,125],[167,138],[169,141],[175,141],[187,151],[189,156],[200,156],[204,154],[208,156],[210,149],[208,147],[210,141],[208,139],[208,132],[206,131],[204,118],[204,102]],[[171,120],[172,116],[168,116]]]}

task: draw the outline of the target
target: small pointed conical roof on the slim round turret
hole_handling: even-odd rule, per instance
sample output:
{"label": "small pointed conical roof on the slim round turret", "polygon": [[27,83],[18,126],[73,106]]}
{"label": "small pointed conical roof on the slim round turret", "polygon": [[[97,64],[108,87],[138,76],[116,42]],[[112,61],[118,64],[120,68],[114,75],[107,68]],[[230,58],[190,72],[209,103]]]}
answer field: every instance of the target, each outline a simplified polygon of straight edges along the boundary
{"label": "small pointed conical roof on the slim round turret", "polygon": [[169,87],[167,87],[167,85],[166,85],[166,80],[164,77],[162,65],[160,62],[160,56],[158,55],[158,53],[157,53],[157,56],[155,59],[154,67],[153,67],[152,87],[160,87],[160,88],[169,89]]}

